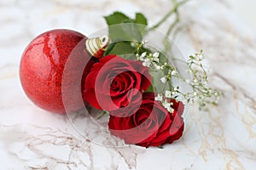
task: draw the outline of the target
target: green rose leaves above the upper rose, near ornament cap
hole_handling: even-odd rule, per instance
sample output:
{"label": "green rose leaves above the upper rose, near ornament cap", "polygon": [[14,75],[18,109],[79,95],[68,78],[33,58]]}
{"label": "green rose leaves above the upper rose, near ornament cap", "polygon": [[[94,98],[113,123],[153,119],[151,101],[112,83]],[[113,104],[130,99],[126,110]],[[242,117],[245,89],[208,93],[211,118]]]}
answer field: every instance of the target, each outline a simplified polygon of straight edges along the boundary
{"label": "green rose leaves above the upper rose, near ornament cap", "polygon": [[125,14],[114,12],[104,17],[108,24],[111,44],[108,45],[107,54],[135,54],[136,47],[131,46],[131,42],[142,42],[146,33],[148,21],[146,17],[137,13],[135,19],[131,19]]}

